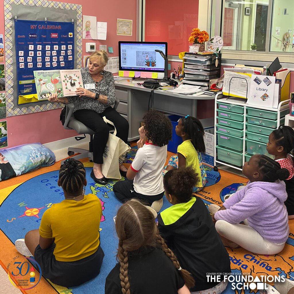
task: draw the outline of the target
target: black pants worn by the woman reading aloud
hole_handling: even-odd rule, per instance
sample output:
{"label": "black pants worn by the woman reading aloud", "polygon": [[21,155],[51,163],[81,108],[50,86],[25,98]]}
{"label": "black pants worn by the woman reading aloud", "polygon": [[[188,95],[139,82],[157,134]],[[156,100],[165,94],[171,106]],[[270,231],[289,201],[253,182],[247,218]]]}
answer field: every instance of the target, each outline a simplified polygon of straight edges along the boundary
{"label": "black pants worn by the woman reading aloud", "polygon": [[128,142],[128,121],[112,107],[106,108],[102,113],[94,110],[81,109],[74,112],[74,117],[95,132],[93,138],[93,162],[103,164],[103,152],[108,140],[109,128],[103,121],[103,116],[113,122],[116,127],[116,136],[125,143]]}

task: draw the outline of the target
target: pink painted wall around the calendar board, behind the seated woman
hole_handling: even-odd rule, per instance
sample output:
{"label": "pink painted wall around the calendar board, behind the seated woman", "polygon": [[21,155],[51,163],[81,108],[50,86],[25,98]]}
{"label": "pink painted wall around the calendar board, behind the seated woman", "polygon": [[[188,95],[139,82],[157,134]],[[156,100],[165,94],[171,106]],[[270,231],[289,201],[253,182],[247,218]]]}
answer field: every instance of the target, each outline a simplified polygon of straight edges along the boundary
{"label": "pink painted wall around the calendar board, behind the seated woman", "polygon": [[[0,16],[2,16],[0,17],[0,34],[4,34],[4,1],[0,0],[0,3]],[[97,49],[99,49],[99,44],[112,46],[113,53],[109,53],[109,57],[118,56],[118,41],[136,41],[136,0],[108,0],[107,2],[101,0],[88,0],[86,2],[82,0],[70,0],[68,3],[82,4],[84,15],[96,16],[97,21],[107,22],[107,39],[105,41],[91,41],[96,42]],[[116,35],[117,18],[133,20],[133,36]],[[88,55],[85,50],[86,41],[88,40],[83,39],[83,55]],[[34,142],[44,144],[76,136],[75,131],[64,130],[59,121],[60,111],[61,109],[55,109],[3,119],[2,121],[7,120],[8,147]]]}

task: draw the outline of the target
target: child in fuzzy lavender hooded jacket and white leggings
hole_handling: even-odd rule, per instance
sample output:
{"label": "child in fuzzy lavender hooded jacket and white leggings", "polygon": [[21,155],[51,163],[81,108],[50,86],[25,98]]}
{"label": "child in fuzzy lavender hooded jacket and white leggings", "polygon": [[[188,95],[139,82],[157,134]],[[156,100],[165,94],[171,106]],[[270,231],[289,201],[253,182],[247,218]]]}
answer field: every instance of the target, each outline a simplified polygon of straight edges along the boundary
{"label": "child in fuzzy lavender hooded jacket and white leggings", "polygon": [[256,254],[277,254],[289,235],[283,182],[289,171],[265,155],[254,155],[245,162],[242,172],[250,182],[213,214],[216,230],[227,246],[239,245]]}

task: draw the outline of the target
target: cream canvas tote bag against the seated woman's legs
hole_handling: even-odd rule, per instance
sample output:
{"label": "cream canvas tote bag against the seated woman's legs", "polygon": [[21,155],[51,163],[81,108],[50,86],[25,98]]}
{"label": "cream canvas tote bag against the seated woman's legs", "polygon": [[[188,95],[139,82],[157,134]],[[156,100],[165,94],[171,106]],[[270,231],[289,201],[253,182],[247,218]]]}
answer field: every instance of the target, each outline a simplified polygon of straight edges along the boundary
{"label": "cream canvas tote bag against the seated woman's legs", "polygon": [[105,116],[103,116],[103,120],[113,126],[114,132],[113,134],[109,133],[103,153],[101,171],[105,178],[120,180],[121,174],[119,172],[119,166],[124,162],[131,147],[116,136],[116,128],[112,121],[109,121]]}

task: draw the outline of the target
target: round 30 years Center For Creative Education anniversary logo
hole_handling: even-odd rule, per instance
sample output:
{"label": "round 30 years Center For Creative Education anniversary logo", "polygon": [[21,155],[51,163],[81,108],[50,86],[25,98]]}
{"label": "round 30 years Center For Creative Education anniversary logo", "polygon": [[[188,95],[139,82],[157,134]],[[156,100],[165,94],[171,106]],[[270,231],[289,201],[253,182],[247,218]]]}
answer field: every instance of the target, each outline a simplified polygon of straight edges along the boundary
{"label": "round 30 years Center For Creative Education anniversary logo", "polygon": [[[38,268],[40,272],[37,282],[35,277],[36,270],[32,265],[34,265],[35,268]],[[20,290],[32,289],[36,287],[36,285],[38,285],[41,280],[41,267],[39,263],[30,257],[25,257],[22,255],[15,256],[13,260],[7,265],[7,270],[8,278],[11,284]]]}

